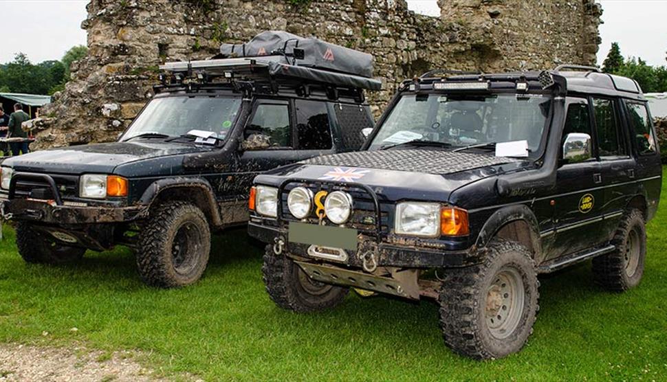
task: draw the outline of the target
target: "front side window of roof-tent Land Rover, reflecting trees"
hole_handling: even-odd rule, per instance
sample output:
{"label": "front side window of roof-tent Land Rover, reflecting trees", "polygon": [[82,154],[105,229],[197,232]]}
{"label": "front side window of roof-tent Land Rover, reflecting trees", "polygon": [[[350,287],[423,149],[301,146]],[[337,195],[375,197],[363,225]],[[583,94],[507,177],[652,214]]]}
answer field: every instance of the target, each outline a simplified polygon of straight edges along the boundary
{"label": "front side window of roof-tent Land Rover, reflecting trees", "polygon": [[289,128],[289,106],[285,103],[259,104],[244,133],[248,148],[290,148],[292,134]]}

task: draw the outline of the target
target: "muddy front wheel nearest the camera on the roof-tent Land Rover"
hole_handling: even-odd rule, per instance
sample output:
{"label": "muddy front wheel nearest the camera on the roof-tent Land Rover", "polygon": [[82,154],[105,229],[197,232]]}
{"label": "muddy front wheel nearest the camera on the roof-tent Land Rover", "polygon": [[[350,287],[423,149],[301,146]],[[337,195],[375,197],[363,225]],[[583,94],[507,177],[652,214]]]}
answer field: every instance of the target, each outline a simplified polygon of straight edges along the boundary
{"label": "muddy front wheel nearest the camera on the roof-tent Land Rover", "polygon": [[153,287],[193,284],[206,270],[210,243],[208,221],[197,206],[162,203],[142,224],[136,251],[139,274]]}

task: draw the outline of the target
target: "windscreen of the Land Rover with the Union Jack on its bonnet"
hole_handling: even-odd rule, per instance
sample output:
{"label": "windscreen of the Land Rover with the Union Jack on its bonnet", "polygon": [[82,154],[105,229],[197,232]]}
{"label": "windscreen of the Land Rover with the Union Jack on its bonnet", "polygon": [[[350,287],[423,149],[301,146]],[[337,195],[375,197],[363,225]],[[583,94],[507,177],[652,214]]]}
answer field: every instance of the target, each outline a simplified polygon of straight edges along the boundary
{"label": "windscreen of the Land Rover with the Union Jack on its bonnet", "polygon": [[541,94],[404,95],[369,148],[414,140],[441,142],[452,148],[527,141],[528,155],[534,156],[550,104],[551,98]]}

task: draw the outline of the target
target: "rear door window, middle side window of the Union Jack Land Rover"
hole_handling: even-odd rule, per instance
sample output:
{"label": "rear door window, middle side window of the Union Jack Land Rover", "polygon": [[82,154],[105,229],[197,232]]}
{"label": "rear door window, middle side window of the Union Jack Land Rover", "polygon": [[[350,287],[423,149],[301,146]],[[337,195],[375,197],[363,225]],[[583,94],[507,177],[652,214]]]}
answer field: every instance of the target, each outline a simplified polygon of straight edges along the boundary
{"label": "rear door window, middle side window of the Union Jack Land Rover", "polygon": [[624,139],[618,129],[614,102],[593,98],[593,110],[595,111],[595,132],[598,134],[600,157],[625,155]]}

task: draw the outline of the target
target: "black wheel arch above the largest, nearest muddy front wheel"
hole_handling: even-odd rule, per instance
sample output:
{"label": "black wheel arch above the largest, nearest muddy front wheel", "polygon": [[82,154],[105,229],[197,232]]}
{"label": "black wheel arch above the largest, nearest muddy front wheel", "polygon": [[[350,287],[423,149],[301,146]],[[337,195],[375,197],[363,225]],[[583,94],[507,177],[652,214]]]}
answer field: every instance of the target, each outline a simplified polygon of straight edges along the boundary
{"label": "black wheel arch above the largest, nearest muddy front wheel", "polygon": [[475,247],[485,247],[496,237],[525,245],[534,260],[540,260],[542,256],[539,224],[526,205],[510,205],[494,212],[480,230]]}

